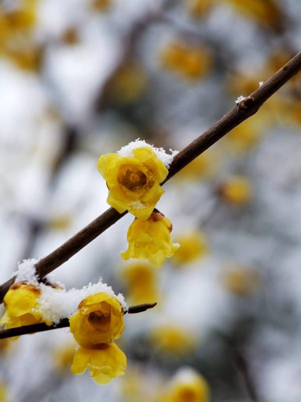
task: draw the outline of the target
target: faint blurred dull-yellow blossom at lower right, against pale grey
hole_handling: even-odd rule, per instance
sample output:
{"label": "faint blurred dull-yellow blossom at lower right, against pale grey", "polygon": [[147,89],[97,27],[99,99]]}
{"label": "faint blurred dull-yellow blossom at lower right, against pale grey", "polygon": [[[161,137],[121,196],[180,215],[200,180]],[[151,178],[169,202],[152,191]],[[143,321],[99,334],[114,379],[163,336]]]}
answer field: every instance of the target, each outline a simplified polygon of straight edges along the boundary
{"label": "faint blurred dull-yellow blossom at lower right, against pale grey", "polygon": [[224,284],[231,292],[241,296],[252,294],[258,287],[258,273],[251,268],[233,267],[223,274]]}

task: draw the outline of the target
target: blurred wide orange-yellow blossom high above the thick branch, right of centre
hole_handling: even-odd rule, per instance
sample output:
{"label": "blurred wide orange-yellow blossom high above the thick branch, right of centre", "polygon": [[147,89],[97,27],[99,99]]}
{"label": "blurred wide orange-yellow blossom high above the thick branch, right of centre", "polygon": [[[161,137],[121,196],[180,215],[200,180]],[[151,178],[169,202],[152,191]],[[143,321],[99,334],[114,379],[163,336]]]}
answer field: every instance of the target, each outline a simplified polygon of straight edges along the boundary
{"label": "blurred wide orange-yellow blossom high above the thick branch, right of centre", "polygon": [[211,65],[209,52],[183,43],[171,43],[160,55],[161,65],[189,79],[204,77]]}

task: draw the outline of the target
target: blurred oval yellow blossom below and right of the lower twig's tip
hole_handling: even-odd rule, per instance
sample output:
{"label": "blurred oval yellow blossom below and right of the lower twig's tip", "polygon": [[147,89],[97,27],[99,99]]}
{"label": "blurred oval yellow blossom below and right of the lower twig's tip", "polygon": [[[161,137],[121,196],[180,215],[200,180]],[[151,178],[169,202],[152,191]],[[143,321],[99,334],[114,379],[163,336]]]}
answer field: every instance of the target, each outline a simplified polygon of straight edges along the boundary
{"label": "blurred oval yellow blossom below and right of the lower twig's tip", "polygon": [[159,352],[183,355],[195,347],[195,338],[190,332],[176,325],[162,325],[150,334],[150,340]]}

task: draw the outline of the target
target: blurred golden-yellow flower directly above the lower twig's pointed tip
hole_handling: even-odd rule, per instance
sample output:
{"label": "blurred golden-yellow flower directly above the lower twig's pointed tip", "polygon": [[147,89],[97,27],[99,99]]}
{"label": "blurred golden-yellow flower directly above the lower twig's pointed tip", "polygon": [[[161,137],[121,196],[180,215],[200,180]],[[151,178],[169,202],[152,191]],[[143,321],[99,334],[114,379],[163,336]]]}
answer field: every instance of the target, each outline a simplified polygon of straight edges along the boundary
{"label": "blurred golden-yellow flower directly above the lower twig's pointed tip", "polygon": [[128,303],[138,305],[158,302],[157,275],[157,270],[144,262],[124,267],[122,278],[126,284]]}

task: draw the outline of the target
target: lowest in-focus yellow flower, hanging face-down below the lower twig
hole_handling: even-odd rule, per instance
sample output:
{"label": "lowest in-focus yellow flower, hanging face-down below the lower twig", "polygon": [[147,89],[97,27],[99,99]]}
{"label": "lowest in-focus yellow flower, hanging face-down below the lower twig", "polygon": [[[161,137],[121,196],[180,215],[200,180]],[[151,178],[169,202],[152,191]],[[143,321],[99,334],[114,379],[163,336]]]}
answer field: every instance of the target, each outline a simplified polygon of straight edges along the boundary
{"label": "lowest in-focus yellow flower, hanging face-down below the lower twig", "polygon": [[124,374],[126,356],[113,342],[99,344],[97,349],[79,348],[73,358],[72,374],[83,374],[86,369],[97,384],[107,384]]}

